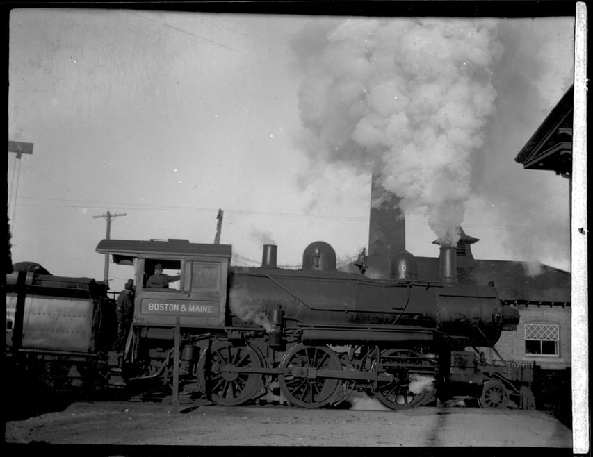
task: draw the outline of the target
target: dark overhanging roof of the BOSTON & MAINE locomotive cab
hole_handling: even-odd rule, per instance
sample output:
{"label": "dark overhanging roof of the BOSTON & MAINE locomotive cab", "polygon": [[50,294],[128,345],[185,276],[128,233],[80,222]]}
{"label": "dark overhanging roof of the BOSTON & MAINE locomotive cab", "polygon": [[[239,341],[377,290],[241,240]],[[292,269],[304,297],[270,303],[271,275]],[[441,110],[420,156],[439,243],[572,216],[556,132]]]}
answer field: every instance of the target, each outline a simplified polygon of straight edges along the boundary
{"label": "dark overhanging roof of the BOSTON & MAINE locomotive cab", "polygon": [[115,263],[127,263],[147,256],[215,256],[231,257],[230,244],[190,243],[188,240],[101,240],[97,244],[99,254],[113,255]]}

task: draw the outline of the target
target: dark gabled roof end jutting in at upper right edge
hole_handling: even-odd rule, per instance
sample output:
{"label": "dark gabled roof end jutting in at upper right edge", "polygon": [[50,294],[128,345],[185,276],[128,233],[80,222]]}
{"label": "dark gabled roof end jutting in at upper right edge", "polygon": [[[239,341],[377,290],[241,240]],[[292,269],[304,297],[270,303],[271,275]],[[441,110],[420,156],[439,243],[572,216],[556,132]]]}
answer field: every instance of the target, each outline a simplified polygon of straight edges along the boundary
{"label": "dark gabled roof end jutting in at upper right edge", "polygon": [[526,169],[571,172],[573,96],[571,86],[519,151],[515,162]]}

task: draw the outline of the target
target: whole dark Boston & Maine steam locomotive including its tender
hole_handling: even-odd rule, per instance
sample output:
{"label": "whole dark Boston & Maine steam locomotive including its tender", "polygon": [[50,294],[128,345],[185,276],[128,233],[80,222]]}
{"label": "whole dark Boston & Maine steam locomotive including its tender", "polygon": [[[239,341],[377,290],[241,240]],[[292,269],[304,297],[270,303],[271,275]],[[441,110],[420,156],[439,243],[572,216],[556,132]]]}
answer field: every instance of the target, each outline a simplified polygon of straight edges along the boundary
{"label": "whole dark Boston & Maine steam locomotive including its tender", "polygon": [[[441,248],[454,259],[455,248]],[[133,324],[124,351],[111,351],[114,303],[90,279],[8,275],[10,356],[61,364],[65,377],[106,385],[195,385],[216,404],[280,401],[336,406],[365,392],[392,409],[452,397],[504,408],[533,407],[533,366],[488,363],[519,313],[490,286],[416,279],[407,251],[373,279],[336,269],[326,242],[304,249],[301,269],[231,266],[231,246],[188,240],[102,240],[99,254],[133,269]],[[148,288],[157,264],[179,275]],[[444,265],[451,266],[444,262]],[[111,329],[111,330],[110,330]],[[494,349],[496,351],[496,349]],[[64,367],[65,365],[65,367]]]}

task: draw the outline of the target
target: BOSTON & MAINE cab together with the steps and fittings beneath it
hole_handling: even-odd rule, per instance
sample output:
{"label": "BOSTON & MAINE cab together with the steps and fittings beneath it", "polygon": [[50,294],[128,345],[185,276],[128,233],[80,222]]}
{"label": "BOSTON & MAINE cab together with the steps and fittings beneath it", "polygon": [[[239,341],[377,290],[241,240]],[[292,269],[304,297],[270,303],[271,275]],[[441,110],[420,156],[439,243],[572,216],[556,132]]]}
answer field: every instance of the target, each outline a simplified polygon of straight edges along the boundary
{"label": "BOSTON & MAINE cab together with the steps and fittings beneath it", "polygon": [[[111,384],[122,381],[120,374],[126,382],[156,380],[165,374],[178,320],[187,337],[199,339],[206,331],[224,333],[231,246],[187,240],[102,240],[97,252],[110,254],[118,265],[133,266],[136,283],[124,354],[110,353]],[[181,345],[180,376],[191,379],[203,349],[190,342]]]}

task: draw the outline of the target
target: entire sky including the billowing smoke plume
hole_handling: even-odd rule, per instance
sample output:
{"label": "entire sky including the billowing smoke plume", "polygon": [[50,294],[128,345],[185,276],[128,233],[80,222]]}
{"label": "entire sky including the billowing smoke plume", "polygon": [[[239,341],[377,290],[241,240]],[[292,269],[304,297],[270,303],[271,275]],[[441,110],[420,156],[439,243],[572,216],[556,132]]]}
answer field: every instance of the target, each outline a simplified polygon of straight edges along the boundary
{"label": "entire sky including the billowing smoke plume", "polygon": [[345,262],[375,172],[416,256],[461,224],[476,258],[570,269],[569,181],[514,157],[572,83],[574,17],[17,9],[9,39],[15,263],[101,280],[107,211],[111,238],[211,243],[219,208],[233,265]]}

